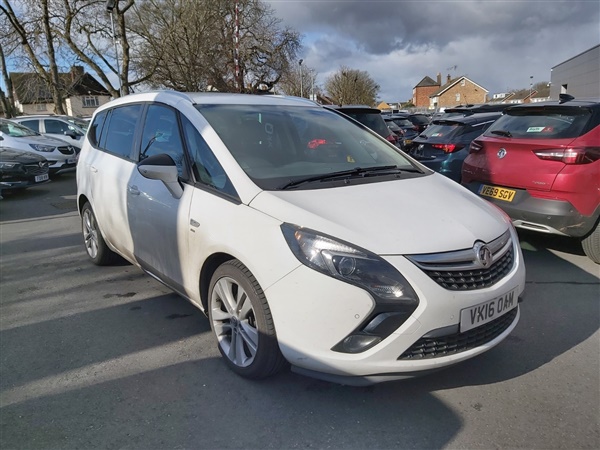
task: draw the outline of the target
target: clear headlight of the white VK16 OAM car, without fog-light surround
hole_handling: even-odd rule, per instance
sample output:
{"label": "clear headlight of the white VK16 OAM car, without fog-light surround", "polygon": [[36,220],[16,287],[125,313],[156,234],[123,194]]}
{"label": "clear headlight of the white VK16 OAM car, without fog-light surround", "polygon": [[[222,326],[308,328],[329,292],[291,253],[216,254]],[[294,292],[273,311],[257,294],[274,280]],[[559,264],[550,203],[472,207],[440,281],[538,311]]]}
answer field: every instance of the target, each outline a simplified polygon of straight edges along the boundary
{"label": "clear headlight of the white VK16 OAM car, without fog-light surround", "polygon": [[296,258],[308,267],[362,287],[380,299],[416,299],[404,277],[379,256],[308,228],[286,223],[281,229]]}

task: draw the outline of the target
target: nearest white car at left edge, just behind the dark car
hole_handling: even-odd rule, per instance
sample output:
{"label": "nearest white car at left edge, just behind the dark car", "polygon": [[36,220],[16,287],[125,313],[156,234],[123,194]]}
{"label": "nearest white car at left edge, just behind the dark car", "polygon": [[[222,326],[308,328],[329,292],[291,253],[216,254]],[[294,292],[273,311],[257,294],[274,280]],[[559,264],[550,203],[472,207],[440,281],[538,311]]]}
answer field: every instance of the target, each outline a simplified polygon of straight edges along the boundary
{"label": "nearest white car at left edge, just behind the dark car", "polygon": [[48,161],[50,175],[72,172],[77,165],[75,147],[60,139],[42,136],[12,120],[0,119],[0,147],[43,156]]}

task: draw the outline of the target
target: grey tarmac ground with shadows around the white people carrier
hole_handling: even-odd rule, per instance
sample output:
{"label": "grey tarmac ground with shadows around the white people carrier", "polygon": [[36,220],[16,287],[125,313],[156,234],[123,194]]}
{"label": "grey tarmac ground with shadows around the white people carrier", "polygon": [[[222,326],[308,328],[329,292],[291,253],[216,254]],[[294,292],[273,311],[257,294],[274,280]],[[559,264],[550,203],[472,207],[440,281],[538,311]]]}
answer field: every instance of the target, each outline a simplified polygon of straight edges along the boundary
{"label": "grey tarmac ground with shadows around the white people carrier", "polygon": [[420,379],[252,382],[138,269],[91,265],[74,175],[0,201],[0,447],[600,448],[599,266],[523,234],[509,339]]}

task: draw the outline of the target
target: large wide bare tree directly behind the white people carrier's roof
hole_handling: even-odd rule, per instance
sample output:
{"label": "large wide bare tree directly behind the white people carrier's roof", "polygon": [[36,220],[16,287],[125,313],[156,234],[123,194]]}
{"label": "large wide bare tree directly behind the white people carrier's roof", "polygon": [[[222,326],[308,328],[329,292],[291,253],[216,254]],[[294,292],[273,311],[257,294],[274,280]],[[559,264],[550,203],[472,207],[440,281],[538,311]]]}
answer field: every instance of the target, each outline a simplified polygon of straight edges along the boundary
{"label": "large wide bare tree directly behind the white people carrier's roof", "polygon": [[298,33],[281,28],[260,0],[146,0],[136,12],[132,29],[141,42],[136,70],[149,75],[155,87],[268,90],[290,69],[300,48]]}

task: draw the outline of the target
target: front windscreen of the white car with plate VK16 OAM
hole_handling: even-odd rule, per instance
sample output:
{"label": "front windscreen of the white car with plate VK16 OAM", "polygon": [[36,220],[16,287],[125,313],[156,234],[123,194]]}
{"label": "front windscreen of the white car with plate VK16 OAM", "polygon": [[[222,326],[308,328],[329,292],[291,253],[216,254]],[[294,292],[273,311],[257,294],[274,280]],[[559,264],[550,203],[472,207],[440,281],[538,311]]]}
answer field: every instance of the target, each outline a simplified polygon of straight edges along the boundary
{"label": "front windscreen of the white car with plate VK16 OAM", "polygon": [[[324,108],[198,105],[197,109],[262,189],[281,189],[290,182],[356,168],[386,166],[422,173],[382,138]],[[376,178],[380,179],[369,181]]]}

